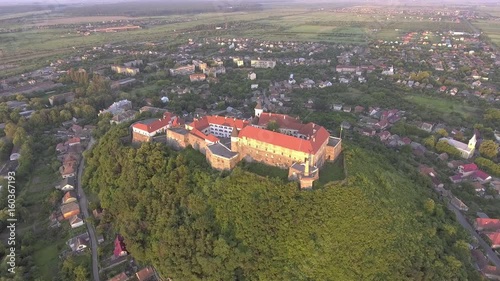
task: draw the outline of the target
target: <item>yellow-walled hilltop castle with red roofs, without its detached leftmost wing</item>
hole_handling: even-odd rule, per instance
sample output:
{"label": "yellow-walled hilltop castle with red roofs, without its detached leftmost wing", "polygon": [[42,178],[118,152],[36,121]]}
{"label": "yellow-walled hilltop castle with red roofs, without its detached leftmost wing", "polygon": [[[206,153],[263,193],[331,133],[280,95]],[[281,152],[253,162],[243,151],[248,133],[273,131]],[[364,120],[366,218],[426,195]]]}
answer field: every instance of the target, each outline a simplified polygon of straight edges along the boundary
{"label": "yellow-walled hilltop castle with red roofs, without its detached leftmost wing", "polygon": [[257,161],[288,169],[289,179],[298,180],[301,188],[311,188],[319,168],[337,159],[342,149],[342,140],[322,126],[263,112],[260,101],[250,120],[205,116],[184,127],[169,126],[166,134],[170,146],[191,145],[214,169],[231,170],[241,160]]}

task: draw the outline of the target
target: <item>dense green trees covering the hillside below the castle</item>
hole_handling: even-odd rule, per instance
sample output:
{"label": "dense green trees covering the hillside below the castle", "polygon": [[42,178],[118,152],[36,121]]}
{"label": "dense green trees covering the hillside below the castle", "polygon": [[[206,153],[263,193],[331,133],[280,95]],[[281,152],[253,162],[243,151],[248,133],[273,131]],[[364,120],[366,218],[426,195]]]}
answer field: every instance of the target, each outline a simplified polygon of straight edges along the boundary
{"label": "dense green trees covering the hillside below the castle", "polygon": [[138,148],[113,127],[86,155],[99,194],[137,261],[174,280],[481,280],[468,238],[428,181],[349,145],[348,180],[312,191],[193,149]]}

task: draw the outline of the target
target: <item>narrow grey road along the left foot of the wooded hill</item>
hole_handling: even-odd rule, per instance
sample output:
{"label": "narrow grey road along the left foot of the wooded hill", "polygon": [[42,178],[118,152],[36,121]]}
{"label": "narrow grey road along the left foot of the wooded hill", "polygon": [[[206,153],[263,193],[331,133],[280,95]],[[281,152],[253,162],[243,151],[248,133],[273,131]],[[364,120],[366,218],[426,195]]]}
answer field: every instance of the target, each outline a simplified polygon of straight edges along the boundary
{"label": "narrow grey road along the left foot of the wooded hill", "polygon": [[[94,145],[95,140],[93,138],[90,139],[90,142],[86,148],[86,150],[89,150],[92,148]],[[82,157],[82,161],[80,162],[80,166],[78,167],[78,195],[79,195],[79,202],[80,202],[80,210],[83,215],[83,218],[85,220],[85,223],[87,225],[87,230],[89,232],[90,236],[90,248],[92,249],[92,275],[94,276],[94,281],[100,281],[99,279],[99,256],[97,254],[97,237],[95,234],[95,229],[92,223],[90,223],[89,220],[87,220],[89,216],[89,208],[88,208],[88,200],[87,200],[87,195],[85,195],[85,191],[82,188],[82,176],[83,176],[83,169],[85,166],[85,159]]]}

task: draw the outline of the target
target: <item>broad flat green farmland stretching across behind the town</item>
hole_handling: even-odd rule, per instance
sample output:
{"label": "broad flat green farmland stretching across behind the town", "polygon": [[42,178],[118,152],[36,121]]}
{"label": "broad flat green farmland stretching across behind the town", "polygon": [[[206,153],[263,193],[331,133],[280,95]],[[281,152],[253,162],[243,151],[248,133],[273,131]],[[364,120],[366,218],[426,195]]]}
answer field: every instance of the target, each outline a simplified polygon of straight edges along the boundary
{"label": "broad flat green farmland stretching across behind the town", "polygon": [[[131,8],[131,7],[129,7]],[[124,11],[126,9],[124,8]],[[130,9],[129,9],[130,10]],[[0,59],[2,64],[16,64],[17,68],[0,71],[0,76],[21,73],[46,65],[48,61],[76,54],[83,49],[105,43],[129,40],[166,41],[167,44],[185,42],[188,38],[201,37],[253,37],[263,40],[322,41],[365,44],[373,39],[396,40],[402,34],[417,29],[465,30],[467,24],[452,22],[417,21],[387,18],[383,15],[359,15],[310,8],[267,8],[262,11],[205,12],[185,15],[152,15],[132,17],[125,12],[102,13],[102,16],[85,16],[76,10],[66,13],[40,12],[26,14],[22,23],[3,21],[5,28],[19,28],[14,33],[0,34]],[[110,12],[110,11],[108,11]],[[29,12],[24,12],[29,13]],[[8,15],[3,15],[8,16]],[[117,33],[92,33],[83,36],[74,28],[55,25],[78,24],[119,20],[159,20],[169,23],[145,26],[144,29]],[[182,22],[179,22],[182,21]],[[237,23],[237,24],[236,24]],[[215,31],[213,25],[228,29]],[[38,29],[35,26],[49,26]],[[493,36],[493,35],[491,35]],[[500,38],[498,38],[500,39]]]}

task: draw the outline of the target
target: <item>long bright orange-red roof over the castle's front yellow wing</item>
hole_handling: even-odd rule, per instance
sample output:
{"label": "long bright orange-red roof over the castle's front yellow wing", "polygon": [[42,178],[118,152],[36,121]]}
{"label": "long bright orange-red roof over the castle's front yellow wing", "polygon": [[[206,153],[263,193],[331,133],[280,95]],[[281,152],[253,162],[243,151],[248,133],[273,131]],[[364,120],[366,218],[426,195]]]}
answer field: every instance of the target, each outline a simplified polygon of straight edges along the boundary
{"label": "long bright orange-red roof over the castle's front yellow wing", "polygon": [[321,126],[317,127],[318,129],[316,133],[309,140],[292,137],[253,126],[247,126],[243,128],[243,130],[240,131],[239,137],[246,137],[291,150],[315,154],[321,148],[321,145],[325,143],[330,137],[330,134],[325,130],[325,128]]}

